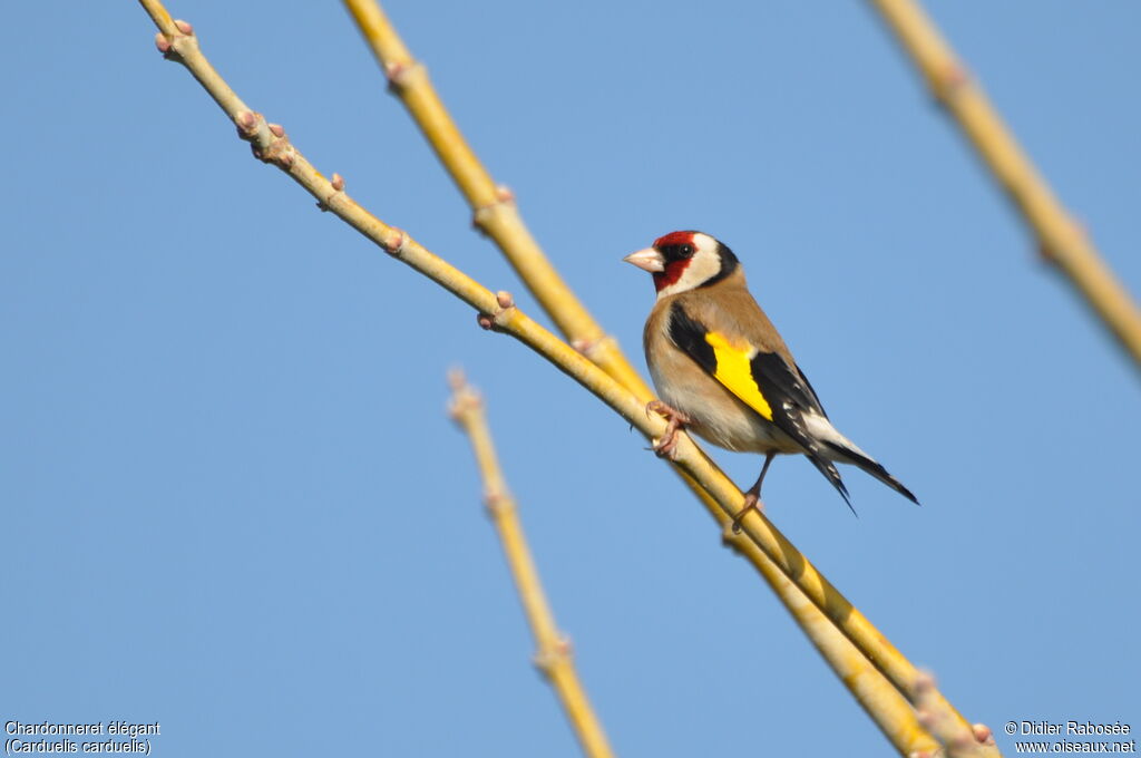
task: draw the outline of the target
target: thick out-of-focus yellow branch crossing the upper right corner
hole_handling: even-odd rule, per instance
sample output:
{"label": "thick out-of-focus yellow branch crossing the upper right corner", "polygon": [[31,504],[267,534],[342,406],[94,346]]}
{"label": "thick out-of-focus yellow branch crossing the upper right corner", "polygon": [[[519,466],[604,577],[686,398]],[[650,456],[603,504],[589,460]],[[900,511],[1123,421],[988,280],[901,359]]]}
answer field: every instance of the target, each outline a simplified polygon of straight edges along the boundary
{"label": "thick out-of-focus yellow branch crossing the upper right corner", "polygon": [[872,0],[904,49],[1010,194],[1037,236],[1045,257],[1058,265],[1106,326],[1141,365],[1141,311],[1114,277],[1082,226],[1038,175],[1018,140],[966,73],[939,31],[913,0]]}

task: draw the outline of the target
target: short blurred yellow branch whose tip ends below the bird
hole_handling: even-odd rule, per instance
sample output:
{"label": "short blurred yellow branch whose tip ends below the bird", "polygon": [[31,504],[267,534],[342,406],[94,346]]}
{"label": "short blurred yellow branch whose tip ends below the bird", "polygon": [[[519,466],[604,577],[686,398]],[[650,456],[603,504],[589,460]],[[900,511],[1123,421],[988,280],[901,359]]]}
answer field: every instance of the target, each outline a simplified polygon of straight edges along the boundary
{"label": "short blurred yellow branch whose tip ends below the bird", "polygon": [[556,627],[555,615],[547,603],[539,571],[523,533],[515,498],[511,497],[500,469],[483,398],[468,386],[461,372],[453,373],[451,380],[452,418],[471,440],[476,465],[484,479],[484,501],[500,535],[503,554],[535,637],[535,666],[555,687],[583,752],[592,758],[609,758],[614,753],[575,671],[570,644]]}

